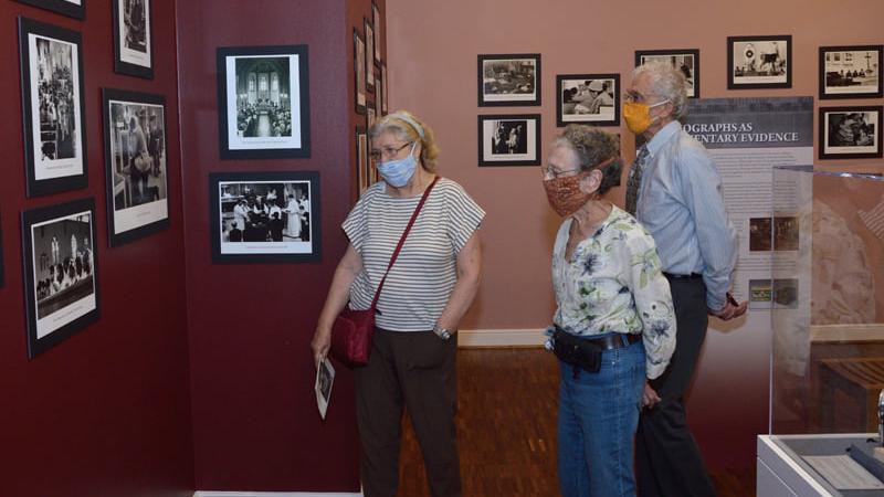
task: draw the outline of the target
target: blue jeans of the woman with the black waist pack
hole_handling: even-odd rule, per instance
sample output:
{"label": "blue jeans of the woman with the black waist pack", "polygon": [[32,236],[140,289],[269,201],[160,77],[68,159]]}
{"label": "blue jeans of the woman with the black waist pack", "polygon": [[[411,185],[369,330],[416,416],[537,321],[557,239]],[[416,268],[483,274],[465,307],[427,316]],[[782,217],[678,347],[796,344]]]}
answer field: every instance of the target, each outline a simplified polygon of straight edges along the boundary
{"label": "blue jeans of the woman with the black waist pack", "polygon": [[602,352],[599,372],[559,361],[558,472],[562,497],[634,496],[633,440],[644,390],[644,346]]}

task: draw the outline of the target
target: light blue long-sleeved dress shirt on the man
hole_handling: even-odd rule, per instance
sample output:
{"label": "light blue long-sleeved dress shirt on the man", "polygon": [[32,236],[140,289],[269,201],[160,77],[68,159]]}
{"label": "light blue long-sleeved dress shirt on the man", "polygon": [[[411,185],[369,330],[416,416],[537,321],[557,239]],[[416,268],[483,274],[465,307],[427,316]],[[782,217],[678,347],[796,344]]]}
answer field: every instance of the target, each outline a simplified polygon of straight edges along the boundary
{"label": "light blue long-sleeved dress shirt on the man", "polygon": [[664,126],[646,147],[635,216],[654,237],[663,272],[702,274],[706,305],[722,309],[737,263],[737,235],[718,169],[678,121]]}

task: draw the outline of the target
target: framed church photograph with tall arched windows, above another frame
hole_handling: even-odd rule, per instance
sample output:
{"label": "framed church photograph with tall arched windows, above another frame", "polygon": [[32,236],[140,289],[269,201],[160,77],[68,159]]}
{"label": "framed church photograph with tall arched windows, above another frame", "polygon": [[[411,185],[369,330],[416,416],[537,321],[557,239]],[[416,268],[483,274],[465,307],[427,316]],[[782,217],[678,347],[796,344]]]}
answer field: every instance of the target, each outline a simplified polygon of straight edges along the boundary
{"label": "framed church photograph with tall arched windows, above another frame", "polygon": [[311,156],[307,45],[218,49],[221,159]]}

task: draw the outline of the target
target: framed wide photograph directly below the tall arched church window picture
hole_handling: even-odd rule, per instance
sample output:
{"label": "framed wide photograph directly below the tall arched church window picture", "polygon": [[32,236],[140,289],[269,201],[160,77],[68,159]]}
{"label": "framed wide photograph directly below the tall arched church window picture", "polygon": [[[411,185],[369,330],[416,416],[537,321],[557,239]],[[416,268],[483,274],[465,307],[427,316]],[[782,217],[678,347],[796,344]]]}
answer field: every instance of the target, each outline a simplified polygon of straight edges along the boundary
{"label": "framed wide photograph directly below the tall arched church window picture", "polygon": [[212,261],[319,261],[319,173],[209,175]]}

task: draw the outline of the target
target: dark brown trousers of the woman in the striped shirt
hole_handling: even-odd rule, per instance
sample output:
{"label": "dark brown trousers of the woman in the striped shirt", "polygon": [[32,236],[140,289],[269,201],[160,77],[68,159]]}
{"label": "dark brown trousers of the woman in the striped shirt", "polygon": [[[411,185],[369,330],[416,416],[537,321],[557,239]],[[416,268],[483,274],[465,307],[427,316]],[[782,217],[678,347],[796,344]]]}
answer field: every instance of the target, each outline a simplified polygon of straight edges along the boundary
{"label": "dark brown trousers of the woman in the striped shirt", "polygon": [[365,497],[394,497],[399,484],[402,409],[408,409],[433,497],[461,496],[454,414],[456,334],[375,329],[371,358],[356,369],[356,420],[362,445]]}

